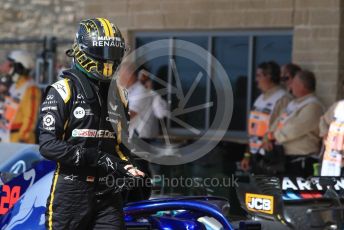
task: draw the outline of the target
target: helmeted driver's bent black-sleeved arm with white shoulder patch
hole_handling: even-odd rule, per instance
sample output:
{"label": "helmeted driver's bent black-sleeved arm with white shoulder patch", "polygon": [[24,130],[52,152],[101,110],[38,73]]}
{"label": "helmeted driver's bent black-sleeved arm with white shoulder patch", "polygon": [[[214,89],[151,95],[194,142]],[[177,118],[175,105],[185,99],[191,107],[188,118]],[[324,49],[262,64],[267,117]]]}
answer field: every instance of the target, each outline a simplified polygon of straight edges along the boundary
{"label": "helmeted driver's bent black-sleeved arm with white shoulder patch", "polygon": [[[65,165],[96,165],[98,152],[95,148],[86,150],[64,140],[65,126],[71,110],[71,91],[67,80],[59,81],[59,83],[63,84],[69,95],[63,94],[64,98],[62,98],[54,87],[50,87],[46,93],[39,119],[40,152],[45,158]],[[84,159],[83,156],[86,155],[89,159]]]}

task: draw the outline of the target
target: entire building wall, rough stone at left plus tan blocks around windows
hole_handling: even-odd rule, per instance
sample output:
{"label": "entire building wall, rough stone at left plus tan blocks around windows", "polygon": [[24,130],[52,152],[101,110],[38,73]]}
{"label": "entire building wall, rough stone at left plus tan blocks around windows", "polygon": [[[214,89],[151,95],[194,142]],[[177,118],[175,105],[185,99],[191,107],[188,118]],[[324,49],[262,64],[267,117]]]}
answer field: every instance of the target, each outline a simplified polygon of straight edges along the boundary
{"label": "entire building wall, rough stone at left plus tan blocks around windows", "polygon": [[343,96],[342,9],[340,0],[3,0],[0,39],[73,39],[77,22],[89,17],[111,19],[129,40],[145,30],[288,28],[293,61],[315,71],[317,93],[330,105]]}

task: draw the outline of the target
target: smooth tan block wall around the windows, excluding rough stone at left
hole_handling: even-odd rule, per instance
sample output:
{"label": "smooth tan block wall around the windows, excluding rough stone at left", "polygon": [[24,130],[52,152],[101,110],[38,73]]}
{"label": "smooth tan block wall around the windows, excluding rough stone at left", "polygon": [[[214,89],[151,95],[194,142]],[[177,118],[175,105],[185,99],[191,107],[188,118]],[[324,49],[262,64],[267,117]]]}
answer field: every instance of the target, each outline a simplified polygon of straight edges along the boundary
{"label": "smooth tan block wall around the windows, excluding rough stone at left", "polygon": [[[293,30],[293,62],[316,73],[317,94],[329,106],[343,95],[339,54],[340,0],[129,0],[85,1],[85,15],[105,15],[131,31]],[[110,7],[104,7],[112,5]],[[343,55],[342,55],[343,56]],[[340,84],[339,84],[340,83]]]}

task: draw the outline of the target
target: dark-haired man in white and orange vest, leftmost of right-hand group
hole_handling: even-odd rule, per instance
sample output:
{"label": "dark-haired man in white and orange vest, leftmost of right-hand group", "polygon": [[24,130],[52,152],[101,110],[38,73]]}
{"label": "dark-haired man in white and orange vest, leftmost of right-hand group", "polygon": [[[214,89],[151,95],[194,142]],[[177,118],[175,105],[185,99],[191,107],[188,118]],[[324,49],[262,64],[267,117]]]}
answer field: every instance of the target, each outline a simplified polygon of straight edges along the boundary
{"label": "dark-haired man in white and orange vest, leftmost of right-hand group", "polygon": [[[285,109],[290,96],[280,86],[280,67],[274,61],[263,62],[256,71],[258,89],[262,94],[254,102],[248,120],[249,151],[244,154],[241,168],[249,170],[265,154],[264,139],[268,138],[270,126]],[[253,159],[252,159],[253,157]]]}

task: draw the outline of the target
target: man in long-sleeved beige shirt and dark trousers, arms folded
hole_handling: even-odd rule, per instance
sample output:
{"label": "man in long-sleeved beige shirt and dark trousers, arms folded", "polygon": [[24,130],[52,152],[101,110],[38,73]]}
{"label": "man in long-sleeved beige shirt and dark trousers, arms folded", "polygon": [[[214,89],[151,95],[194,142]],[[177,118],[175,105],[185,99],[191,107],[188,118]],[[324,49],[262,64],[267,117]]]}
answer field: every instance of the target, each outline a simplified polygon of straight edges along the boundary
{"label": "man in long-sleeved beige shirt and dark trousers, arms folded", "polygon": [[[323,106],[314,95],[316,86],[312,72],[297,72],[291,89],[295,97],[272,126],[271,136],[285,153],[286,174],[307,177],[313,173],[320,151],[319,121]],[[266,145],[268,146],[268,145]],[[271,146],[268,146],[268,148]]]}

